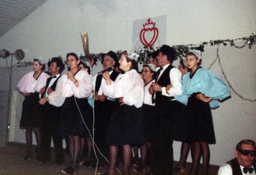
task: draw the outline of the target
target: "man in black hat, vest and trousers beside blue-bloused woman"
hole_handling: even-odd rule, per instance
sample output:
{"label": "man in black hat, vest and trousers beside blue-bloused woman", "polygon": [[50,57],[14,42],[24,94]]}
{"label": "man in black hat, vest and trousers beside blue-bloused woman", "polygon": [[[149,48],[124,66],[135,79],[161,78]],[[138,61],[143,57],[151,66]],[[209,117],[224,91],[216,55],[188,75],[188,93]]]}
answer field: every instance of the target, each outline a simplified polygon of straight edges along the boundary
{"label": "man in black hat, vest and trousers beside blue-bloused woman", "polygon": [[[149,88],[155,100],[159,123],[156,130],[156,140],[152,145],[154,162],[148,174],[172,174],[173,173],[173,118],[180,115],[182,105],[174,96],[182,94],[181,73],[173,67],[176,59],[176,51],[163,45],[157,51],[157,63],[160,69],[156,74],[156,82]],[[166,86],[172,84],[172,88],[166,93]]]}

